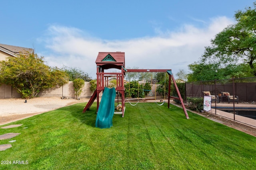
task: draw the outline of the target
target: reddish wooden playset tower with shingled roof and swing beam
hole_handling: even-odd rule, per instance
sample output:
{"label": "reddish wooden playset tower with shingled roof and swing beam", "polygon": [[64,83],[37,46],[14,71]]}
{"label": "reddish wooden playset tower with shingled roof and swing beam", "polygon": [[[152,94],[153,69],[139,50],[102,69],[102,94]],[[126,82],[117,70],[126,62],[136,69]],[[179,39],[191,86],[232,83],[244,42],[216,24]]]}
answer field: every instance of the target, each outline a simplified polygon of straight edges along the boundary
{"label": "reddish wooden playset tower with shingled roof and swing beam", "polygon": [[[122,102],[122,117],[124,117],[124,108],[125,108],[125,98],[124,98],[124,77],[126,72],[167,72],[169,76],[169,85],[168,85],[168,108],[170,108],[170,99],[177,99],[180,100],[182,108],[184,110],[185,116],[187,119],[188,113],[186,111],[184,102],[180,95],[180,91],[178,86],[174,80],[174,76],[172,74],[171,69],[127,69],[125,68],[125,55],[124,52],[99,52],[97,59],[95,61],[97,66],[97,87],[94,93],[92,94],[89,102],[84,107],[83,112],[90,109],[94,100],[97,98],[97,111],[99,108],[99,94],[100,92],[104,91],[105,87],[108,87],[108,79],[109,77],[116,77],[116,91],[121,94],[121,102]],[[105,72],[105,70],[110,68],[116,68],[120,70],[120,72]],[[174,86],[176,88],[178,97],[170,96],[170,86],[171,82],[173,81]]]}

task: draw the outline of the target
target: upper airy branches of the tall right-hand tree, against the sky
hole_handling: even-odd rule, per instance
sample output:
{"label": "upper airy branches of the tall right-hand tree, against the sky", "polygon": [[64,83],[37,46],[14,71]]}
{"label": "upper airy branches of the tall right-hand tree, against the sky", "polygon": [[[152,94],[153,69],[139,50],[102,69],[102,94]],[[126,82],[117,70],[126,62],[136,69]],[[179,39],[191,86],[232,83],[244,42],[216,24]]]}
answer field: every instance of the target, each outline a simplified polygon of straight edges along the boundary
{"label": "upper airy branches of the tall right-hand tree, against the sky", "polygon": [[200,63],[216,64],[224,68],[229,64],[244,63],[256,76],[256,2],[254,8],[238,10],[235,24],[229,25],[205,47]]}

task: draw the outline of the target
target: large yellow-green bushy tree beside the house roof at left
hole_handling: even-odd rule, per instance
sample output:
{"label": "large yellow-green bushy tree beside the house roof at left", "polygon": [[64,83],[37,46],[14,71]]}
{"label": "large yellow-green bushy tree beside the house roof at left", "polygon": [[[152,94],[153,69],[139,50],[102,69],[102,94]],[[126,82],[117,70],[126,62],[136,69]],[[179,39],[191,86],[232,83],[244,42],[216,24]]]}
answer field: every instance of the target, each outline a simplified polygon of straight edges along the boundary
{"label": "large yellow-green bushy tree beside the house roof at left", "polygon": [[12,85],[22,98],[34,98],[41,90],[66,84],[66,72],[47,66],[43,59],[31,53],[0,61],[0,83]]}

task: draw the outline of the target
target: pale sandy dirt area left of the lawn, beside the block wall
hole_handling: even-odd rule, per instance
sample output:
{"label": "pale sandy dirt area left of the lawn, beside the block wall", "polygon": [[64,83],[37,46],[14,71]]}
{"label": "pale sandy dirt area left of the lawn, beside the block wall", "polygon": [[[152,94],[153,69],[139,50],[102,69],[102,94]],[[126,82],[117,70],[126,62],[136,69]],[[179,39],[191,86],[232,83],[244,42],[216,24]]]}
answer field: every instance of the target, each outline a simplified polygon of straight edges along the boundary
{"label": "pale sandy dirt area left of the lawn, beside the block wall", "polygon": [[0,125],[25,119],[46,111],[58,109],[80,102],[88,102],[89,99],[61,99],[60,97],[28,99],[0,99]]}

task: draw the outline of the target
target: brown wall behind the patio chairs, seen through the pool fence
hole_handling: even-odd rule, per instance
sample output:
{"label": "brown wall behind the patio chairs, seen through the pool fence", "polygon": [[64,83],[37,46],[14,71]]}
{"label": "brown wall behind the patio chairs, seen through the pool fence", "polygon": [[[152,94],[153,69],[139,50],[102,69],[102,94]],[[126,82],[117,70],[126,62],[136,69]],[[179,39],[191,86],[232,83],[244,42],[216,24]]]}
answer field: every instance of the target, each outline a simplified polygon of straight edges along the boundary
{"label": "brown wall behind the patio chairs, seen through the pool fence", "polygon": [[[203,91],[210,92],[210,95],[220,96],[217,97],[218,100],[216,102],[219,101],[227,104],[228,101],[224,100],[226,98],[221,96],[221,92],[228,92],[230,96],[238,96],[239,103],[255,104],[256,108],[256,77],[186,82],[186,98],[203,97]],[[230,101],[230,107],[234,107],[235,111],[235,103],[237,102],[234,100]]]}

